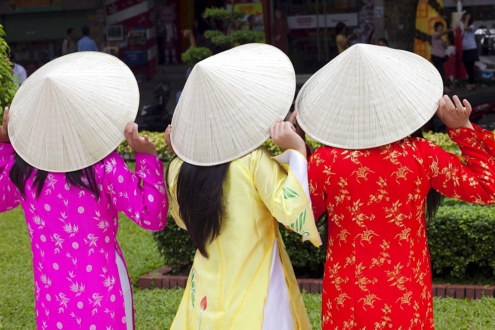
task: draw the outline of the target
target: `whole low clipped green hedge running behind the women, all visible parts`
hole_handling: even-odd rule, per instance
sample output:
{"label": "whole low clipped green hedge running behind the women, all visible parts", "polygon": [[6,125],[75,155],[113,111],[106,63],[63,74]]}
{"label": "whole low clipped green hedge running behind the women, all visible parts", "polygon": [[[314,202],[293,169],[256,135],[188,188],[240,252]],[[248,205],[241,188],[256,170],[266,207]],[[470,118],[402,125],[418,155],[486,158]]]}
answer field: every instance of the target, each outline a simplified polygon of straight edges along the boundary
{"label": "whole low clipped green hedge running behind the women, all visible parts", "polygon": [[[434,275],[462,277],[466,275],[468,265],[490,267],[495,275],[495,206],[464,203],[447,202],[454,206],[441,206],[435,219],[427,226]],[[321,278],[325,247],[318,249],[309,242],[301,242],[299,235],[282,225],[279,229],[296,274]],[[172,266],[174,273],[184,270],[187,273],[196,247],[170,214],[167,228],[153,232],[153,237],[164,264]]]}

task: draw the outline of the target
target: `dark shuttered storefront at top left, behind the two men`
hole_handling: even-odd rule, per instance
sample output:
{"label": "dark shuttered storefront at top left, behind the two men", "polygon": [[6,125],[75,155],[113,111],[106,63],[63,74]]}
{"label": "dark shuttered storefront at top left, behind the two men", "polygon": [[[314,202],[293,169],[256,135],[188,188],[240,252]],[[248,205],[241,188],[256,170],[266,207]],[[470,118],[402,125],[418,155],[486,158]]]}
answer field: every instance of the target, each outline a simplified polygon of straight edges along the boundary
{"label": "dark shuttered storefront at top left, behind the two men", "polygon": [[68,28],[76,29],[80,38],[81,27],[88,25],[97,44],[104,40],[104,12],[98,0],[3,0],[0,15],[6,41],[28,75],[61,55]]}

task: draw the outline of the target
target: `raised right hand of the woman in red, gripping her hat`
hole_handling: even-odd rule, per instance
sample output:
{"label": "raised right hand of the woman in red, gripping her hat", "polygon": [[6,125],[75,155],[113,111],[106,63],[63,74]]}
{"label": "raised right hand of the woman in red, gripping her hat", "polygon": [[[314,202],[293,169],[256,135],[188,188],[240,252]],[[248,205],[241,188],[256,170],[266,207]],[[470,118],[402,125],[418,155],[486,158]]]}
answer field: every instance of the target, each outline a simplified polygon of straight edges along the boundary
{"label": "raised right hand of the woman in red, gripping her hat", "polygon": [[471,115],[471,104],[464,99],[462,102],[466,107],[463,107],[461,101],[454,95],[452,97],[454,103],[447,95],[439,99],[439,107],[437,109],[437,115],[444,124],[449,128],[473,128],[473,125],[469,121],[469,115]]}

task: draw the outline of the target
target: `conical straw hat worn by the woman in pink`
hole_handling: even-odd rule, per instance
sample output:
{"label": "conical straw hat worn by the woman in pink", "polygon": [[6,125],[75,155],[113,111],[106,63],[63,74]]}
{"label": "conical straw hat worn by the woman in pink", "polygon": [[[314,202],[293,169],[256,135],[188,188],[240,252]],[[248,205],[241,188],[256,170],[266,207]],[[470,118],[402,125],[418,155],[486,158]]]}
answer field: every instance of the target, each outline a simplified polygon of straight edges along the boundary
{"label": "conical straw hat worn by the woman in pink", "polygon": [[28,164],[74,171],[122,142],[138,106],[138,84],[122,61],[100,52],[72,53],[45,64],[19,87],[8,134]]}

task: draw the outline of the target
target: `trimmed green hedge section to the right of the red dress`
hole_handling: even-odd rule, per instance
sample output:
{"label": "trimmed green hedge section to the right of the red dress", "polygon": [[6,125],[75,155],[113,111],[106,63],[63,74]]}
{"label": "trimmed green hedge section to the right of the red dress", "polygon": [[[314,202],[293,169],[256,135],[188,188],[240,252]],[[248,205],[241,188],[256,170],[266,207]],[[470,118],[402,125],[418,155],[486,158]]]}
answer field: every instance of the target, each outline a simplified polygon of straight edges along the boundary
{"label": "trimmed green hedge section to the right of the red dress", "polygon": [[495,275],[495,206],[448,202],[428,224],[432,267],[460,277],[468,266],[489,267]]}

